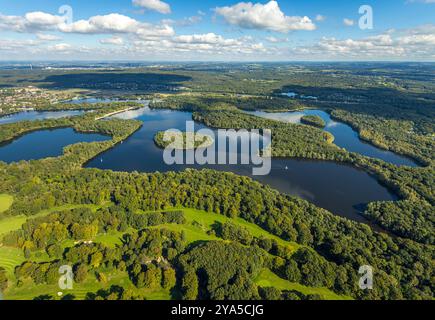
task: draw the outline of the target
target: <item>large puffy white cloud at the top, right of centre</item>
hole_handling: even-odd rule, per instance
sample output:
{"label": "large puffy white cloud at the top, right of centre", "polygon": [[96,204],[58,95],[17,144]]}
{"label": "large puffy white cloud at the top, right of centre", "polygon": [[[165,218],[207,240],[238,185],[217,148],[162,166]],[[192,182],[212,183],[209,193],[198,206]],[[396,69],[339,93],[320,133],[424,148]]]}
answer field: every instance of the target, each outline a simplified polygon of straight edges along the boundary
{"label": "large puffy white cloud at the top, right of centre", "polygon": [[269,1],[266,4],[240,2],[233,6],[215,8],[215,12],[222,16],[227,23],[241,28],[264,29],[282,33],[316,29],[316,25],[306,16],[286,16],[276,1]]}

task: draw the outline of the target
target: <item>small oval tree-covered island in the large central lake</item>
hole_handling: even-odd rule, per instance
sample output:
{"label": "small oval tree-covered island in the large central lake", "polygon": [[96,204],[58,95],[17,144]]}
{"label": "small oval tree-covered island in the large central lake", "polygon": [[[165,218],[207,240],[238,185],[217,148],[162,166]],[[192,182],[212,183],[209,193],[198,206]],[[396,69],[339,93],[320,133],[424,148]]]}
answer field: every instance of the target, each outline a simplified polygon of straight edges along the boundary
{"label": "small oval tree-covered island in the large central lake", "polygon": [[[165,134],[169,135],[170,140],[165,141],[163,138]],[[192,149],[192,147],[187,146],[187,133],[186,132],[171,132],[171,131],[160,131],[154,136],[154,142],[159,148],[165,149],[167,146],[172,144],[173,142],[178,142],[175,145],[175,149],[178,150],[188,150]],[[194,147],[193,149],[199,149],[199,148],[208,148],[213,145],[214,139],[208,135],[203,135],[199,133],[194,134]]]}

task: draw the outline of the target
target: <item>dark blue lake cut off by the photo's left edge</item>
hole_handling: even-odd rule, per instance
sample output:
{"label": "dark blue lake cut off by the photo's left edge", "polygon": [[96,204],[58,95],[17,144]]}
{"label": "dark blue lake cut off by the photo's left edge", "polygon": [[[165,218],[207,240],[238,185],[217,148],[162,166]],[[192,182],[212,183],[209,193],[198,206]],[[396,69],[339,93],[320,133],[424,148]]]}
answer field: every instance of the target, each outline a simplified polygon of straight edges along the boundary
{"label": "dark blue lake cut off by the photo's left edge", "polygon": [[11,163],[57,157],[63,154],[63,148],[67,145],[109,139],[100,134],[78,133],[72,128],[35,131],[0,144],[0,161]]}

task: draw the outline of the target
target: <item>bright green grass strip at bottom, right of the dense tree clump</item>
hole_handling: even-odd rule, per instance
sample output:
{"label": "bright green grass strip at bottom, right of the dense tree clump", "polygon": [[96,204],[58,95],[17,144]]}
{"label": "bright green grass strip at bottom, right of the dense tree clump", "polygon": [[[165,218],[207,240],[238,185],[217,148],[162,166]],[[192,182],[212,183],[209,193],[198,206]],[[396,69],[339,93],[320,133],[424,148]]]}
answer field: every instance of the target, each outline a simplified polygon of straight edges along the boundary
{"label": "bright green grass strip at bottom, right of the dense tree clump", "polygon": [[255,283],[260,287],[275,287],[278,290],[294,290],[304,295],[319,294],[325,300],[351,300],[347,296],[338,295],[328,288],[313,288],[306,287],[299,283],[293,283],[288,280],[282,279],[274,274],[269,269],[263,269],[255,279]]}

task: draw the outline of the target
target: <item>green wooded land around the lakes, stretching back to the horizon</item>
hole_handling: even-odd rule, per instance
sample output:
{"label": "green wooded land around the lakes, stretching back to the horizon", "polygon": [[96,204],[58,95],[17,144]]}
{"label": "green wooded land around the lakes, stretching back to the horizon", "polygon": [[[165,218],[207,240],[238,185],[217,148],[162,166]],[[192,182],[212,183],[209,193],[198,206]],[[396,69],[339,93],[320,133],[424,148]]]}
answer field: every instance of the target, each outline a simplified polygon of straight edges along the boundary
{"label": "green wooded land around the lakes, stretching back to the horizon", "polygon": [[[413,76],[406,67],[397,67],[386,77],[385,68],[361,66],[349,72],[342,65],[210,68],[159,73],[144,68],[101,77],[87,73],[78,85],[90,88],[95,81],[94,89],[121,91],[122,85],[137,85],[138,97],[161,91],[153,96],[152,108],[193,111],[196,121],[213,128],[272,129],[274,157],[337,161],[364,170],[400,198],[370,203],[363,213],[387,232],[232,173],[84,169],[89,160],[143,125],[136,120],[96,120],[140,104],[84,106],[94,111],[0,127],[3,143],[34,130],[60,127],[112,137],[67,146],[57,158],[0,162],[0,195],[12,199],[0,212],[0,290],[6,298],[433,299],[434,86],[426,79],[430,74],[423,70],[421,76]],[[0,84],[20,81],[13,71],[8,73],[0,77]],[[41,71],[24,84],[64,89],[74,86],[79,75],[83,73],[48,77]],[[104,79],[120,87],[105,88]],[[146,81],[138,84],[140,79]],[[281,95],[291,91],[318,99]],[[356,128],[363,139],[412,155],[424,166],[397,167],[337,147],[334,137],[316,126],[280,123],[241,111],[310,107],[330,112]],[[77,288],[60,297],[56,282],[65,264],[72,266]],[[373,290],[358,287],[361,265],[375,270]]]}

